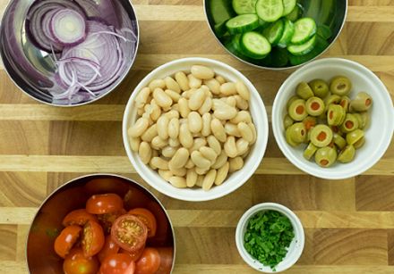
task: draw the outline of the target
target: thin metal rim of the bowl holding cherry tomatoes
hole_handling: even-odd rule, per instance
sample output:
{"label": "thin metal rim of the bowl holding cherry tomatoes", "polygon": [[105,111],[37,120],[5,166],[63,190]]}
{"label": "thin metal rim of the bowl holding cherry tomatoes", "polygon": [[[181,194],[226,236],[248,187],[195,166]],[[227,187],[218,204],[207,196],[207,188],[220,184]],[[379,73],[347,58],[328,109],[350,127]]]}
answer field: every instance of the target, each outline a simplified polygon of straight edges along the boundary
{"label": "thin metal rim of the bowl holding cherry tomatoes", "polygon": [[171,221],[171,218],[168,215],[167,212],[167,208],[163,205],[163,203],[161,203],[160,200],[158,200],[158,197],[156,195],[154,195],[147,187],[142,186],[139,182],[133,180],[133,179],[129,179],[127,177],[124,177],[122,175],[118,175],[118,174],[114,174],[114,173],[90,173],[90,174],[85,174],[82,175],[80,177],[76,177],[73,179],[70,179],[68,181],[66,181],[63,185],[56,187],[55,190],[53,190],[49,195],[47,195],[47,197],[39,204],[39,208],[37,209],[37,212],[34,213],[34,217],[31,219],[30,221],[30,226],[29,226],[29,230],[28,233],[26,234],[26,244],[25,244],[25,263],[26,266],[28,268],[29,273],[30,272],[30,268],[29,268],[29,260],[28,260],[28,243],[29,243],[29,236],[30,236],[30,232],[31,232],[31,228],[33,225],[34,220],[36,220],[37,215],[39,214],[39,211],[42,209],[42,207],[44,206],[45,203],[47,203],[47,200],[49,200],[53,195],[55,195],[57,192],[59,192],[62,188],[68,186],[69,184],[72,184],[73,182],[80,180],[80,179],[88,179],[90,177],[97,177],[97,176],[106,176],[106,177],[111,177],[111,178],[116,178],[116,179],[124,179],[126,181],[128,181],[129,183],[133,183],[135,185],[137,185],[138,187],[141,187],[142,189],[144,189],[147,193],[149,193],[155,200],[156,202],[161,206],[161,208],[163,209],[163,212],[166,214],[167,216],[167,220],[169,222],[169,225],[171,227],[171,231],[172,231],[172,235],[173,235],[173,244],[174,244],[174,254],[173,254],[173,263],[172,263],[172,267],[171,267],[171,271],[170,273],[173,272],[174,267],[176,265],[176,231],[174,229],[174,225]]}

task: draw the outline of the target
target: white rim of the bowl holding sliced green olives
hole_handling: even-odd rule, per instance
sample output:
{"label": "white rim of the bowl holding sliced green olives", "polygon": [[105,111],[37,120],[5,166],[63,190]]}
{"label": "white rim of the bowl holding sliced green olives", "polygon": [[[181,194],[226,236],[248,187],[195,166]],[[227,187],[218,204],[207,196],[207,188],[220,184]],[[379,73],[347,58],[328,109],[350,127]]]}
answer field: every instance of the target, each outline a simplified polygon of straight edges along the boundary
{"label": "white rim of the bowl holding sliced green olives", "polygon": [[[298,159],[294,156],[293,152],[289,150],[289,146],[287,145],[286,141],[283,141],[284,140],[283,132],[281,131],[281,129],[279,127],[279,123],[281,121],[278,120],[278,116],[279,116],[278,114],[282,111],[281,109],[278,109],[279,108],[278,104],[280,104],[279,97],[281,97],[281,95],[285,93],[285,87],[287,86],[288,82],[290,82],[294,77],[298,76],[299,74],[302,74],[304,71],[308,71],[308,70],[312,69],[313,66],[321,65],[321,64],[325,64],[325,63],[329,63],[329,65],[332,63],[342,64],[342,65],[344,65],[344,67],[351,66],[351,67],[355,68],[357,71],[363,71],[364,74],[367,74],[368,76],[370,76],[371,79],[373,79],[373,81],[378,84],[377,88],[379,88],[379,90],[382,91],[381,96],[384,96],[388,99],[386,102],[390,102],[390,103],[392,102],[392,100],[390,98],[389,91],[387,90],[387,87],[385,87],[385,85],[383,84],[381,79],[379,79],[373,73],[373,71],[371,71],[370,69],[368,69],[367,67],[365,67],[361,63],[351,61],[348,59],[344,59],[344,58],[322,58],[322,59],[310,62],[310,63],[306,64],[304,67],[298,69],[297,71],[294,71],[291,75],[289,75],[287,77],[287,79],[279,87],[278,93],[275,96],[275,100],[272,105],[272,116],[271,116],[272,117],[272,122],[271,122],[272,131],[273,131],[273,134],[274,134],[274,137],[275,137],[276,143],[278,144],[279,149],[286,156],[287,160],[289,162],[293,163],[293,165],[295,165],[296,168],[303,170],[305,173],[308,173],[310,175],[313,175],[314,177],[321,178],[321,179],[349,179],[349,178],[353,178],[357,175],[362,174],[365,170],[369,170],[370,168],[373,167],[374,164],[376,164],[377,162],[379,162],[381,160],[381,157],[383,156],[383,154],[385,154],[388,147],[390,146],[390,140],[392,138],[392,133],[394,132],[394,124],[391,124],[388,129],[389,133],[391,132],[391,137],[387,137],[388,138],[387,143],[383,144],[382,149],[381,149],[381,153],[376,154],[376,159],[374,161],[370,161],[370,162],[365,163],[361,169],[356,169],[353,172],[348,172],[348,173],[322,172],[321,174],[320,173],[316,174],[316,172],[314,172],[315,170],[311,170],[308,166],[306,166],[302,162],[298,161]],[[392,120],[394,120],[394,109],[391,109],[391,110],[392,110],[392,112],[390,112],[390,111],[389,112],[392,117]],[[321,169],[323,169],[323,168],[319,167],[319,170],[321,170]],[[330,170],[330,168],[325,169],[325,170]],[[327,173],[327,174],[325,174],[325,173]],[[330,173],[330,175],[328,175],[328,173]]]}

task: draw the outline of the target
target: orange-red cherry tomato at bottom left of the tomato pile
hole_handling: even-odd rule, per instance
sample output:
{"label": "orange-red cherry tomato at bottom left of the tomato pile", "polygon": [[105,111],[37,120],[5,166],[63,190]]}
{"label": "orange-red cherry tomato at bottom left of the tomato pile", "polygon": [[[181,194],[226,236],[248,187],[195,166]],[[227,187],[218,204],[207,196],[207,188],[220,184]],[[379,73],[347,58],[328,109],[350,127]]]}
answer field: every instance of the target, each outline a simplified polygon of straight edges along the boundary
{"label": "orange-red cherry tomato at bottom left of the tomato pile", "polygon": [[86,258],[81,247],[73,248],[63,262],[64,274],[96,274],[99,261],[96,257]]}

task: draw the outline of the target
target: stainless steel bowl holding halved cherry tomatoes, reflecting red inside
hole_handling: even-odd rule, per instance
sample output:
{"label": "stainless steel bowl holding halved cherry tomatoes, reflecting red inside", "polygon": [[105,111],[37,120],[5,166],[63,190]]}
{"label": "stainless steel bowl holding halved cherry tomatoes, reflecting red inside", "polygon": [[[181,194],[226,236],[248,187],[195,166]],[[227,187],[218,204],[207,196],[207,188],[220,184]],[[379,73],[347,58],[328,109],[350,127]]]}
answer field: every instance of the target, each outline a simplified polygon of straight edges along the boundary
{"label": "stainless steel bowl holding halved cherry tomatoes, reflecting red inside", "polygon": [[63,229],[64,216],[68,212],[84,208],[91,195],[105,193],[116,193],[121,196],[127,193],[130,199],[124,201],[124,209],[144,207],[154,213],[158,220],[158,232],[156,237],[149,239],[148,245],[173,248],[174,269],[174,228],[164,206],[150,191],[131,179],[112,174],[93,174],[73,179],[58,187],[39,207],[30,226],[26,248],[27,264],[31,274],[63,273],[64,260],[56,255],[54,242]]}

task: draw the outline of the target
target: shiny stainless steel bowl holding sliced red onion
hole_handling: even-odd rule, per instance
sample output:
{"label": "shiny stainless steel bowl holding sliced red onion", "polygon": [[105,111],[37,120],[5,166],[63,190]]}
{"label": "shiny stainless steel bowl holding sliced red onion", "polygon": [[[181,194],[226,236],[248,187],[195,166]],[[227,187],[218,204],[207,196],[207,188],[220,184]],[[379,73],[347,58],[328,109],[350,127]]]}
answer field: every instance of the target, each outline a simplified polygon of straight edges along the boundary
{"label": "shiny stainless steel bowl holding sliced red onion", "polygon": [[105,87],[96,98],[81,99],[81,102],[76,103],[54,102],[52,95],[47,92],[47,88],[54,85],[50,76],[55,71],[55,64],[51,59],[51,54],[39,50],[30,42],[25,29],[26,13],[35,0],[11,0],[5,9],[0,29],[0,55],[4,62],[5,71],[17,87],[41,103],[56,106],[76,106],[99,100],[122,82],[133,65],[140,37],[133,5],[128,0],[83,1],[90,1],[90,4],[95,5],[109,1],[110,6],[113,7],[112,12],[116,14],[116,23],[119,28],[133,29],[137,42],[133,55],[127,52],[124,54],[126,66],[121,76],[114,83]]}

